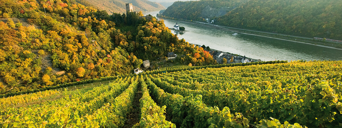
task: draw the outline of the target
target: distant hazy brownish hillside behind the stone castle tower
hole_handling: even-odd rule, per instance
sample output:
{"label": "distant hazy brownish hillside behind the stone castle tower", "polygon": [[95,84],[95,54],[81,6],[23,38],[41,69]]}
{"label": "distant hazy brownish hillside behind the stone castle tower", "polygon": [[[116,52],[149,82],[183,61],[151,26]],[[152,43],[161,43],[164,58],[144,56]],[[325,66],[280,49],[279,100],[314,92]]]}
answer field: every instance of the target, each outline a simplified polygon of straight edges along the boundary
{"label": "distant hazy brownish hillside behind the stone castle tower", "polygon": [[[81,0],[80,0],[81,1]],[[82,0],[86,1],[99,10],[105,10],[109,14],[112,13],[126,13],[126,3],[133,4],[133,11],[157,11],[166,9],[163,5],[157,2],[148,0]]]}

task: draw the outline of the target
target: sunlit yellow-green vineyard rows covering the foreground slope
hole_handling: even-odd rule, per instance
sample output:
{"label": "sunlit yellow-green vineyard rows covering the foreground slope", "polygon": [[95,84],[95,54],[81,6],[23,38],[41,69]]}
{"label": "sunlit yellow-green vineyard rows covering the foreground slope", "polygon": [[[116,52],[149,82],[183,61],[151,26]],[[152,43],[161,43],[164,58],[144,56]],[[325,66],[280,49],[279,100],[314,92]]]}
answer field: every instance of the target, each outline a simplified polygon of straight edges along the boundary
{"label": "sunlit yellow-green vineyard rows covering the foreground slope", "polygon": [[[26,107],[10,104],[67,90],[1,98],[0,126],[342,127],[342,61],[175,68],[115,77],[89,91]],[[127,126],[138,91],[139,121]]]}

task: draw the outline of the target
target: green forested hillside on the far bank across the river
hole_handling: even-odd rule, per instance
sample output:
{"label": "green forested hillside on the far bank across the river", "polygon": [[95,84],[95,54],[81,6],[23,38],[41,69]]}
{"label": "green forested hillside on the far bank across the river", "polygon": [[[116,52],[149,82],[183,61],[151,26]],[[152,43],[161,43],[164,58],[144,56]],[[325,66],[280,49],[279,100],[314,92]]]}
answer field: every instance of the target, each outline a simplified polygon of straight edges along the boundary
{"label": "green forested hillside on the far bank across the river", "polygon": [[[203,7],[211,0],[175,2],[163,16],[203,21]],[[220,6],[232,6],[229,1]],[[211,17],[215,24],[303,37],[342,40],[342,2],[339,0],[248,0],[236,1],[237,8]],[[235,4],[235,5],[236,5]],[[213,8],[213,7],[212,7]]]}

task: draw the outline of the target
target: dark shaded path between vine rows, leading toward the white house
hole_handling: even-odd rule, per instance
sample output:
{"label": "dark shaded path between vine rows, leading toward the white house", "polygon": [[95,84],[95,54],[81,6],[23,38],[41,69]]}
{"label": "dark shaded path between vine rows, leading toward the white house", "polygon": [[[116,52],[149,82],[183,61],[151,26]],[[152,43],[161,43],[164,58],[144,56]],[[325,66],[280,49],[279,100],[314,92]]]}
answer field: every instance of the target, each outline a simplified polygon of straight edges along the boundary
{"label": "dark shaded path between vine rows, leading toward the white house", "polygon": [[129,113],[127,120],[125,122],[125,125],[123,128],[132,128],[133,125],[136,123],[139,123],[140,120],[140,102],[139,100],[142,98],[143,94],[141,92],[141,84],[138,85],[138,91],[135,94],[134,100],[133,100],[133,109]]}

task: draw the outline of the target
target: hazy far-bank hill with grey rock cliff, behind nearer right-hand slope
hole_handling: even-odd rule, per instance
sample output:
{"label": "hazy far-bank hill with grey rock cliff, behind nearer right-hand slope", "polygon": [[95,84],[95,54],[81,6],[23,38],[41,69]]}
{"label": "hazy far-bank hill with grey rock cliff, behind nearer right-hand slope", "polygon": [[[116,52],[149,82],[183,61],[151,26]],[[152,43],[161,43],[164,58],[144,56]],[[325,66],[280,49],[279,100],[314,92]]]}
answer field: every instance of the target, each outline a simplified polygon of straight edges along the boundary
{"label": "hazy far-bank hill with grey rock cliff, behind nearer right-hand slope", "polygon": [[205,18],[213,18],[225,15],[248,0],[200,0],[200,1],[176,1],[169,6],[162,15],[179,19],[203,21]]}

